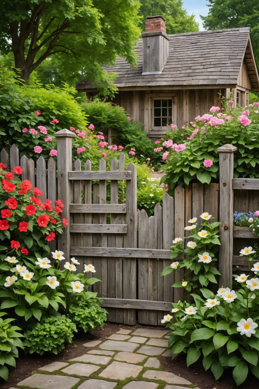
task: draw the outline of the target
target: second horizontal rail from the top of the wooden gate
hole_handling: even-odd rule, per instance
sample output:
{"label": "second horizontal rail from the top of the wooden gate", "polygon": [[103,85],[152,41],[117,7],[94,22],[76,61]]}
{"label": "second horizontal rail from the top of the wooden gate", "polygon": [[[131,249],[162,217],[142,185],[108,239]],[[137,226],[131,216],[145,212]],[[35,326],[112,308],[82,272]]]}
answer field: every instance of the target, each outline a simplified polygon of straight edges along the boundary
{"label": "second horizontal rail from the top of the wooden gate", "polygon": [[[113,184],[113,181],[111,182]],[[70,204],[71,213],[126,213],[126,204]]]}

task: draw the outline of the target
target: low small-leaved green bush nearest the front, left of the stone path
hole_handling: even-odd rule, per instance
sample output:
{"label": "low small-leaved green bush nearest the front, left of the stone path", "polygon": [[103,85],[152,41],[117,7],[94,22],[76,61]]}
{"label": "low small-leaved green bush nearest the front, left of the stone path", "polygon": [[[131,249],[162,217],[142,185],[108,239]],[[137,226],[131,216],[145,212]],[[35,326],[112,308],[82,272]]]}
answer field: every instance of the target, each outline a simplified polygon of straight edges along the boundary
{"label": "low small-leaved green bush nearest the front, left of the stone path", "polygon": [[24,347],[30,354],[44,352],[59,354],[66,345],[72,342],[76,324],[66,315],[44,317],[42,322],[35,323],[24,333]]}

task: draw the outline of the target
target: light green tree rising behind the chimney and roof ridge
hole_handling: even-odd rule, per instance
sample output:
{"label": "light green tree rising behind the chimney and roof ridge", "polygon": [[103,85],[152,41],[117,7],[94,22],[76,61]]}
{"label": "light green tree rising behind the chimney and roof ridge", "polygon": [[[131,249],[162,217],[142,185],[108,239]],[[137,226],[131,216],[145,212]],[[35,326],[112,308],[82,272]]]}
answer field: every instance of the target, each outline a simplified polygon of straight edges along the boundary
{"label": "light green tree rising behind the chimney and roof ridge", "polygon": [[147,16],[161,15],[166,19],[166,32],[168,34],[179,34],[184,32],[199,31],[199,24],[195,21],[194,15],[188,15],[183,9],[181,0],[142,0],[139,12],[143,15],[142,29],[145,30],[145,19]]}

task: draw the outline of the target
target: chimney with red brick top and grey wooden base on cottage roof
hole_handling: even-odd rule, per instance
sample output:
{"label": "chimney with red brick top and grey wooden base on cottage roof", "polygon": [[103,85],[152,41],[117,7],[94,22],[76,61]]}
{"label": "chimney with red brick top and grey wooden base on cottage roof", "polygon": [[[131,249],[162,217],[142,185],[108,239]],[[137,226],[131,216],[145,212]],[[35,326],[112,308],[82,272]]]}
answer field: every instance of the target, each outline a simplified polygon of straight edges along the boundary
{"label": "chimney with red brick top and grey wooden base on cottage roof", "polygon": [[165,29],[163,16],[148,16],[143,39],[142,74],[161,74],[168,58],[170,40]]}

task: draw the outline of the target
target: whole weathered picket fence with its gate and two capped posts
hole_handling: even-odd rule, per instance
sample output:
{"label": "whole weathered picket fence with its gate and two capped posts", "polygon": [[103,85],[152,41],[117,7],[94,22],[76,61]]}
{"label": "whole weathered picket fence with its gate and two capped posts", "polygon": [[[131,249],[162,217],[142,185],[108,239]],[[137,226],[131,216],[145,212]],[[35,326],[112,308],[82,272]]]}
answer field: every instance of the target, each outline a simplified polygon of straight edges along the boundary
{"label": "whole weathered picket fence with its gate and two capped posts", "polygon": [[[259,199],[256,180],[233,179],[235,147],[225,145],[218,149],[220,184],[178,186],[174,198],[165,193],[162,207],[156,204],[154,216],[148,217],[144,210],[137,210],[136,166],[130,163],[125,170],[123,153],[119,161],[115,158],[111,161],[110,171],[106,170],[104,159],[100,161],[99,171],[92,171],[90,161],[81,166],[77,159],[72,165],[75,134],[61,130],[55,136],[57,170],[53,158],[46,164],[40,157],[36,166],[25,156],[20,159],[15,145],[10,149],[10,156],[7,150],[1,151],[1,162],[11,168],[21,165],[22,179],[30,179],[33,186],[39,187],[44,200],[50,198],[54,202],[59,197],[63,201],[62,216],[68,219],[69,226],[58,237],[58,247],[64,251],[66,259],[72,256],[78,259],[80,272],[84,270],[84,263],[94,265],[96,273],[87,273],[87,277],[94,275],[102,280],[92,288],[103,298],[109,321],[135,324],[138,320],[157,325],[172,308],[171,302],[183,298],[182,288],[171,288],[183,275],[174,272],[161,277],[160,273],[172,262],[169,250],[172,240],[189,235],[184,226],[192,217],[198,217],[199,226],[202,212],[212,214],[214,221],[222,221],[219,285],[231,283],[232,265],[243,269],[245,260],[238,254],[240,248],[250,242],[245,238],[254,236],[249,228],[233,228],[233,204],[237,211],[255,211],[259,209]],[[92,184],[93,180],[99,180],[99,184]],[[118,196],[120,180],[126,182],[123,203]],[[107,181],[110,182],[110,203],[106,203]],[[248,192],[248,189],[252,190]],[[240,243],[240,237],[244,242]],[[187,242],[188,239],[185,244]],[[50,243],[52,250],[55,249],[55,242]]]}

